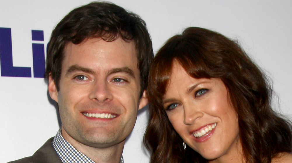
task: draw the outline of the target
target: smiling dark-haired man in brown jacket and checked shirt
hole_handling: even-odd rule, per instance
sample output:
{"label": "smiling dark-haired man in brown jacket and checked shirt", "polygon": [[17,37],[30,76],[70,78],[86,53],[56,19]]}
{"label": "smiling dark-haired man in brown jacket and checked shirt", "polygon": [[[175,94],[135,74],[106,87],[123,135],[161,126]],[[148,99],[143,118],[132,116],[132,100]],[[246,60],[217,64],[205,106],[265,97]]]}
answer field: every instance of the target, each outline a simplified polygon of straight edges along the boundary
{"label": "smiling dark-haired man in brown jacket and checked shirt", "polygon": [[62,127],[17,162],[123,162],[145,88],[152,42],[145,22],[112,3],[72,10],[52,32],[46,77]]}

